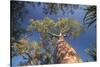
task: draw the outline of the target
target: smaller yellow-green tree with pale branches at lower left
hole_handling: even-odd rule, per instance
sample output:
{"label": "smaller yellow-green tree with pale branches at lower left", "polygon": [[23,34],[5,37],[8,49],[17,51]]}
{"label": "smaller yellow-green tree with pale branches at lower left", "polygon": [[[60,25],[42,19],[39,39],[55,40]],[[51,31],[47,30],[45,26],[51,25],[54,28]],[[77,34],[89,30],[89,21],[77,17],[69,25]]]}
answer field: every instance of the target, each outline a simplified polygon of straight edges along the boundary
{"label": "smaller yellow-green tree with pale branches at lower left", "polygon": [[36,41],[29,42],[27,38],[21,38],[14,43],[16,53],[26,61],[21,61],[18,65],[37,65],[41,56],[40,44]]}

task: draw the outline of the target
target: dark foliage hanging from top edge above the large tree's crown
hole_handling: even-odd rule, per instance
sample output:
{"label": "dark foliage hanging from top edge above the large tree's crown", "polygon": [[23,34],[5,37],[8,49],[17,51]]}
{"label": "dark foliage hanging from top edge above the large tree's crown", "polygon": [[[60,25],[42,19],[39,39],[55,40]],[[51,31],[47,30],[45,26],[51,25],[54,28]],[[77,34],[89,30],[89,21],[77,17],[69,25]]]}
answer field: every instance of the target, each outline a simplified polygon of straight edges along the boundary
{"label": "dark foliage hanging from top edge above the large tree's crown", "polygon": [[79,5],[57,3],[44,3],[43,6],[43,13],[50,15],[57,15],[58,11],[61,11],[63,14],[66,12],[73,14],[74,10],[79,8]]}

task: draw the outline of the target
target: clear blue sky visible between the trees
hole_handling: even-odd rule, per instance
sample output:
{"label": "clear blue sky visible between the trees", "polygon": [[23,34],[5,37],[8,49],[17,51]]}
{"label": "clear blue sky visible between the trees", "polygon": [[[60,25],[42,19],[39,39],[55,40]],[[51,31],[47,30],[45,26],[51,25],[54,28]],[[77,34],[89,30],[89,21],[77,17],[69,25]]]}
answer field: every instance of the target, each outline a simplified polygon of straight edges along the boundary
{"label": "clear blue sky visible between the trees", "polygon": [[[82,61],[86,61],[90,58],[89,55],[86,54],[85,49],[89,48],[93,42],[96,40],[96,32],[94,29],[91,31],[86,28],[86,25],[83,24],[83,18],[86,13],[81,8],[86,7],[85,5],[79,5],[79,8],[75,10],[74,14],[70,14],[69,12],[66,12],[65,14],[62,14],[61,11],[58,11],[59,13],[55,15],[45,15],[43,13],[43,6],[36,6],[33,8],[30,4],[27,4],[24,7],[24,10],[27,10],[28,13],[26,17],[24,18],[24,21],[22,23],[22,27],[26,28],[28,25],[28,22],[30,19],[42,19],[43,17],[47,16],[51,18],[52,20],[56,21],[58,18],[73,18],[75,20],[78,20],[82,26],[84,27],[84,31],[80,33],[80,35],[74,39],[67,39],[65,38],[71,46],[76,50],[77,54],[80,56]],[[31,37],[29,37],[29,40],[36,40],[38,41],[40,38],[39,33],[34,33]],[[21,56],[17,56],[12,59],[13,65],[16,65],[19,61],[23,60]]]}

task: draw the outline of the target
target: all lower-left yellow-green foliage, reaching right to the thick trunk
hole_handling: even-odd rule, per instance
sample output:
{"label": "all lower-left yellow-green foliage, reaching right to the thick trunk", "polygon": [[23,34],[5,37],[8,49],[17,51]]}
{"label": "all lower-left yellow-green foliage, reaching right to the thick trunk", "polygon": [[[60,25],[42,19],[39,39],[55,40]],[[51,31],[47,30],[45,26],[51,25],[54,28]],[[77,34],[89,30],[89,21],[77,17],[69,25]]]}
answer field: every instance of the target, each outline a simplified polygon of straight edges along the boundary
{"label": "all lower-left yellow-green foliage, reaching right to the thick trunk", "polygon": [[[23,57],[27,61],[21,61],[19,65],[37,65],[51,63],[50,46],[41,47],[43,45],[36,41],[29,41],[27,38],[21,38],[14,43],[13,49],[17,55]],[[44,50],[44,52],[41,51]],[[17,56],[16,55],[16,56]],[[41,63],[40,63],[41,62]]]}

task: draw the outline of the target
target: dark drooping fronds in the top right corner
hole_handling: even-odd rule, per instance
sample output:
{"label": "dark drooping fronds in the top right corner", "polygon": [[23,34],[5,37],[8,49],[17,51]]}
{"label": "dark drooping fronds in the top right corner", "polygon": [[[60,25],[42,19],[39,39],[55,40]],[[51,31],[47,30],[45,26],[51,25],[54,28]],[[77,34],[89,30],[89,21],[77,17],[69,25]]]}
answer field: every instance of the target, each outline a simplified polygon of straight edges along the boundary
{"label": "dark drooping fronds in the top right corner", "polygon": [[86,14],[83,21],[88,25],[88,27],[90,27],[96,23],[96,6],[88,6],[85,10]]}

